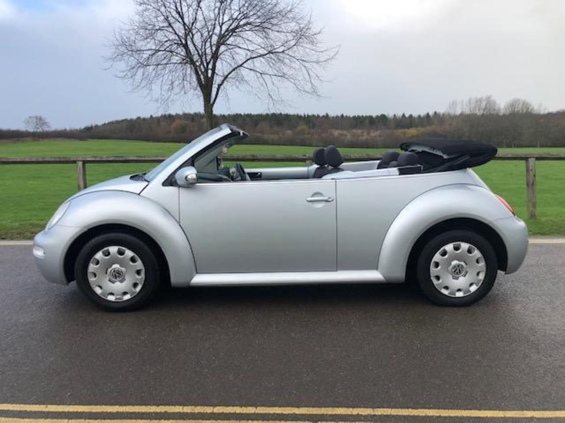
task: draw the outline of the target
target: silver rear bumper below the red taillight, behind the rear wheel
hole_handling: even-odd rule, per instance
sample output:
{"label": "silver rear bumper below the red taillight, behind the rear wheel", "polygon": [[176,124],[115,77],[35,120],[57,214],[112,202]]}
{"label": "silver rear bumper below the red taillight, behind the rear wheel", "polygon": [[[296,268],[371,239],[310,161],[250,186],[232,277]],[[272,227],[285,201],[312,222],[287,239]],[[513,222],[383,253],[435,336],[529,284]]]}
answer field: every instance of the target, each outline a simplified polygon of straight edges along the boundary
{"label": "silver rear bumper below the red taillight, behind the rear wheel", "polygon": [[515,216],[498,219],[494,224],[506,245],[508,263],[505,273],[514,273],[528,253],[528,227],[522,219]]}

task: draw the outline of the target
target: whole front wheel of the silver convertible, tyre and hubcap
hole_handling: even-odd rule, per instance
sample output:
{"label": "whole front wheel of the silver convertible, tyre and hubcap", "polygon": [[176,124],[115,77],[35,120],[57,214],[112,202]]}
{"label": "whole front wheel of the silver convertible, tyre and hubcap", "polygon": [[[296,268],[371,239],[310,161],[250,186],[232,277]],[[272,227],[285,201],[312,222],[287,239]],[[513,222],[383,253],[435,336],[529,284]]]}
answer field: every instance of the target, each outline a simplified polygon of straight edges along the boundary
{"label": "whole front wheel of the silver convertible, tyre and hubcap", "polygon": [[127,233],[105,233],[81,249],[75,277],[82,293],[106,310],[128,311],[159,288],[159,262],[149,246]]}

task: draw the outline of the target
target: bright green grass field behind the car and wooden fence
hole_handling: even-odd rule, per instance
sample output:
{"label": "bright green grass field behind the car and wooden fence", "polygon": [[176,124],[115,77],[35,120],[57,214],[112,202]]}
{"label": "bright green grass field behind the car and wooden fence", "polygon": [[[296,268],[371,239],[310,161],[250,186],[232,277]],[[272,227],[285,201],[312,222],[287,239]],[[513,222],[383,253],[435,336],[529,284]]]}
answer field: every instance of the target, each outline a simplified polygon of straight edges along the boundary
{"label": "bright green grass field behind the car and wooden fence", "polygon": [[[41,140],[0,144],[0,157],[168,156],[175,143],[130,140]],[[344,154],[377,154],[386,149],[340,148]],[[233,154],[310,155],[312,147],[234,146]],[[516,148],[502,152],[565,153],[565,148]],[[291,165],[244,163],[246,168]],[[89,164],[88,184],[146,170],[153,164]],[[521,217],[526,215],[523,161],[490,162],[475,170],[496,193],[505,197]],[[538,218],[527,219],[537,235],[565,235],[565,162],[537,163]],[[0,239],[31,238],[57,206],[77,190],[75,165],[0,165]]]}

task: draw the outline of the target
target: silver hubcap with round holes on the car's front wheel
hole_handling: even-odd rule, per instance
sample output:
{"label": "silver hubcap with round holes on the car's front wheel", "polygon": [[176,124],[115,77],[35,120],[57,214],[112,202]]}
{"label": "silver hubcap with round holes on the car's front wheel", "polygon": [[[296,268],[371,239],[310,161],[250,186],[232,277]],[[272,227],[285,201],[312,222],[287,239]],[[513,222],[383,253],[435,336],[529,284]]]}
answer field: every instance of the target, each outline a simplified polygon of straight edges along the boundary
{"label": "silver hubcap with round holes on the car's front wheel", "polygon": [[108,301],[125,301],[143,287],[145,267],[132,250],[107,246],[90,259],[88,281],[98,296]]}

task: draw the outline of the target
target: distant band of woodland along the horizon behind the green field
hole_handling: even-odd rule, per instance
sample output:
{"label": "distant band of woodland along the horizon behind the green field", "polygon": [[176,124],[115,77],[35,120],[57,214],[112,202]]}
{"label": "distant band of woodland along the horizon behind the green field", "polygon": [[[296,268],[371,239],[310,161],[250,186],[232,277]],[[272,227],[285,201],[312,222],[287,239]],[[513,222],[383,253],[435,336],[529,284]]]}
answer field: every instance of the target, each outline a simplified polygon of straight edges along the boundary
{"label": "distant band of woodland along the horizon behind the green field", "polygon": [[[450,103],[444,113],[418,115],[221,114],[217,120],[219,124],[229,122],[241,127],[251,134],[248,142],[255,144],[397,147],[403,140],[438,136],[477,140],[498,147],[565,147],[565,111],[540,113],[529,103],[519,101],[524,100],[511,100],[500,108],[486,96]],[[182,113],[117,120],[80,130],[0,130],[0,139],[33,135],[187,142],[205,131],[202,113]]]}

